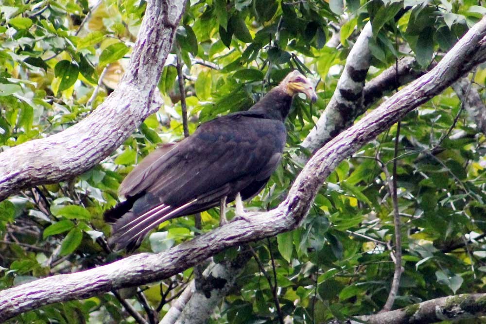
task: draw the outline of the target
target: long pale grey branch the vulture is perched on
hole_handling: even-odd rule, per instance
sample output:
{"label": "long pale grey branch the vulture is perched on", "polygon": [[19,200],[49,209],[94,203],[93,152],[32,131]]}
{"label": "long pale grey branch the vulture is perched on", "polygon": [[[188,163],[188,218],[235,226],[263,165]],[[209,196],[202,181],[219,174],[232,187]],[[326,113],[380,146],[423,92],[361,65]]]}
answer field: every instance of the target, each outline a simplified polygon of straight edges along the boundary
{"label": "long pale grey branch the vulture is perched on", "polygon": [[230,222],[159,254],[141,253],[95,269],[54,275],[3,290],[0,321],[43,305],[88,298],[111,289],[168,278],[228,247],[295,228],[307,215],[319,188],[341,161],[484,61],[486,17],[474,25],[430,72],[318,150],[277,208],[254,213],[249,222]]}

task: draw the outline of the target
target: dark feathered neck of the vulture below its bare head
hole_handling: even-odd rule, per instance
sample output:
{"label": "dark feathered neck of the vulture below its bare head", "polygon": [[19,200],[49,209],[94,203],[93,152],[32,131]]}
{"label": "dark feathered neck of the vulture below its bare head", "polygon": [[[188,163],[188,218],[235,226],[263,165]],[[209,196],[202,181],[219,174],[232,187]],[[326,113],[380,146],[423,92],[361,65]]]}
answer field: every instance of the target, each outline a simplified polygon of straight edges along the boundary
{"label": "dark feathered neck of the vulture below its bare head", "polygon": [[292,96],[276,86],[270,90],[251,110],[259,110],[271,119],[285,120],[292,106]]}

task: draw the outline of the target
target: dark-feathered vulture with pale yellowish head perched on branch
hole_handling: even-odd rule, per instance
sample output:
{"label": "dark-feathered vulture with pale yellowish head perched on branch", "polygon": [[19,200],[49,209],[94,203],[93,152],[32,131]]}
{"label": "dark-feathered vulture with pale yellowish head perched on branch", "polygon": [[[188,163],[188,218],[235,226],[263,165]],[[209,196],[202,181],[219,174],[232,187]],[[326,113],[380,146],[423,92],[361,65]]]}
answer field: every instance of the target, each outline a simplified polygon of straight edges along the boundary
{"label": "dark-feathered vulture with pale yellowish head perched on branch", "polygon": [[[282,158],[284,120],[296,93],[315,102],[312,83],[290,72],[247,111],[201,124],[194,134],[148,154],[120,185],[126,198],[104,214],[112,224],[110,245],[132,251],[161,222],[256,196]],[[243,217],[244,218],[244,217]]]}

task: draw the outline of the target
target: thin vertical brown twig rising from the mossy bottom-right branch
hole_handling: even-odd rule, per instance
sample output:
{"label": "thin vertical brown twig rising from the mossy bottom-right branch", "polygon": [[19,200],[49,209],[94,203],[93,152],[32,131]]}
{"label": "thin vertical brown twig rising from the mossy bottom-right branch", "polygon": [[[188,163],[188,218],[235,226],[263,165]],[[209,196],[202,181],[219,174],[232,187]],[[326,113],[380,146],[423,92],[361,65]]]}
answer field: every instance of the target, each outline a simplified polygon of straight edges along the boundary
{"label": "thin vertical brown twig rising from the mossy bottom-right branch", "polygon": [[[386,175],[388,186],[392,195],[393,202],[393,223],[395,225],[395,272],[393,273],[392,287],[390,288],[390,293],[386,300],[385,306],[383,306],[382,311],[389,311],[392,309],[395,298],[397,297],[400,277],[401,277],[401,231],[400,231],[400,215],[398,210],[398,198],[397,198],[397,155],[399,146],[399,136],[400,136],[400,121],[397,123],[397,135],[395,137],[395,160],[393,162],[393,178],[389,178],[389,174]],[[386,167],[383,168],[385,174],[388,173]]]}

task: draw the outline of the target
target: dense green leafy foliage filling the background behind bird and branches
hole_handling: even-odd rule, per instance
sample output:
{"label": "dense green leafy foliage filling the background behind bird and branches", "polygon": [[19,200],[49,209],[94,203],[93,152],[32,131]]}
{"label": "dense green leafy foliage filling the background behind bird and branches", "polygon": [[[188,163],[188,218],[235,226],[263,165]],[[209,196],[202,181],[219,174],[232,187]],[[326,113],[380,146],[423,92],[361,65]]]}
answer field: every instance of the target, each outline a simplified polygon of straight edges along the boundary
{"label": "dense green leafy foliage filling the background behind bird and branches", "polygon": [[[0,149],[60,132],[96,109],[121,78],[145,6],[133,0],[5,0],[0,6]],[[319,81],[312,107],[295,100],[282,165],[248,204],[250,210],[266,210],[278,205],[302,167],[295,155],[309,154],[299,144],[329,102],[368,20],[374,35],[371,79],[404,56],[427,68],[485,13],[472,0],[191,1],[159,82],[165,102],[160,110],[91,171],[0,203],[0,288],[91,268],[120,255],[104,247],[109,235],[104,210],[116,203],[121,180],[141,158],[157,144],[184,136],[177,57],[184,65],[190,133],[201,122],[247,109],[291,68],[311,72]],[[339,42],[326,46],[336,30]],[[470,87],[484,100],[485,69],[472,77]],[[383,166],[392,172],[396,153],[404,272],[395,307],[483,290],[484,135],[451,89],[402,120],[397,152],[396,133],[396,127],[384,130],[343,162],[300,228],[252,244],[265,271],[252,258],[211,323],[278,321],[274,286],[281,313],[294,323],[378,312],[394,271],[393,202]],[[201,217],[201,230],[193,217],[161,224],[139,251],[163,251],[218,226],[218,210]],[[215,261],[238,252],[229,249]],[[168,299],[176,298],[193,275],[190,269],[141,289],[162,317]],[[104,294],[42,307],[12,322],[133,323],[120,311],[120,299],[143,312],[140,297],[124,291],[120,298]]]}

